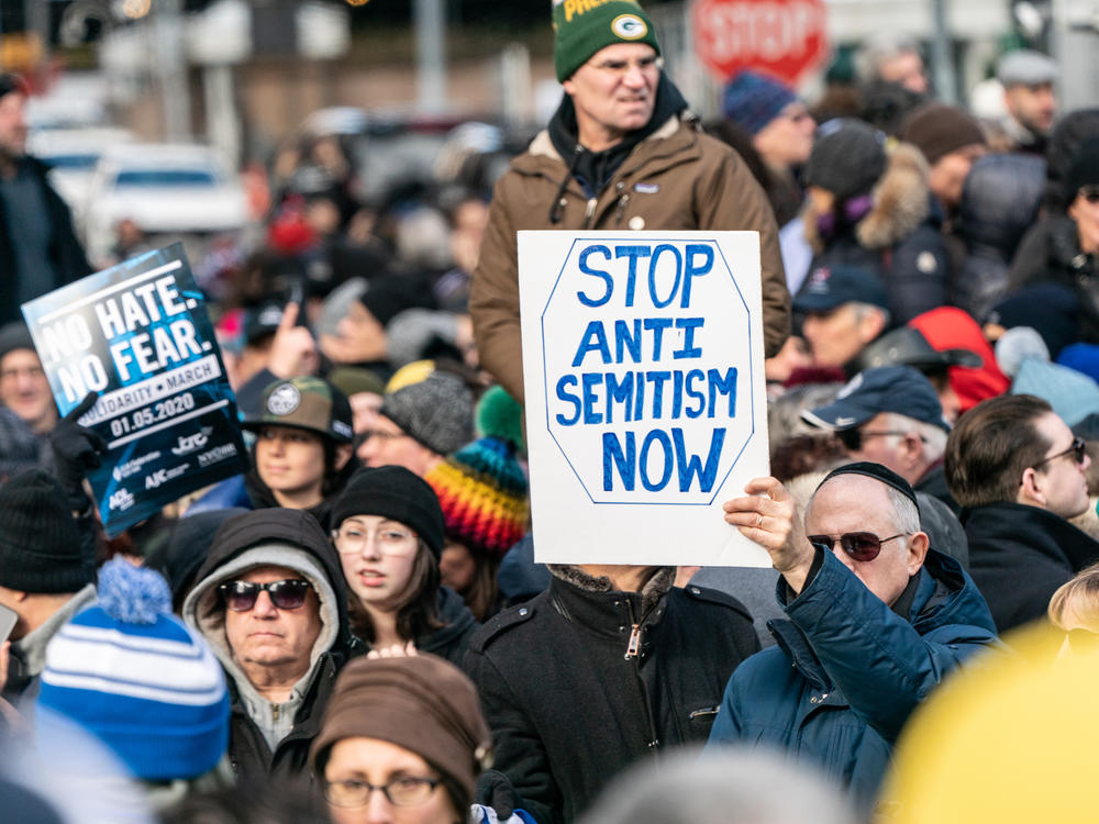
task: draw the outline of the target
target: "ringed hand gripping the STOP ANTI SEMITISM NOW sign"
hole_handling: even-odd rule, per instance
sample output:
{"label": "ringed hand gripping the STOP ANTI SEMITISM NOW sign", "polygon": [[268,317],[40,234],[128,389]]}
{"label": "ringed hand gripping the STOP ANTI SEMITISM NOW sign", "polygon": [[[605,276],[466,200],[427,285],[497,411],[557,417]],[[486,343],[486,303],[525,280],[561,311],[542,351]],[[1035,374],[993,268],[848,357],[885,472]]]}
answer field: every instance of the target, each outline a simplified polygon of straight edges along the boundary
{"label": "ringed hand gripping the STOP ANTI SEMITISM NOW sign", "polygon": [[754,541],[770,555],[771,565],[800,592],[813,561],[798,505],[777,478],[753,478],[744,498],[725,501],[725,523]]}

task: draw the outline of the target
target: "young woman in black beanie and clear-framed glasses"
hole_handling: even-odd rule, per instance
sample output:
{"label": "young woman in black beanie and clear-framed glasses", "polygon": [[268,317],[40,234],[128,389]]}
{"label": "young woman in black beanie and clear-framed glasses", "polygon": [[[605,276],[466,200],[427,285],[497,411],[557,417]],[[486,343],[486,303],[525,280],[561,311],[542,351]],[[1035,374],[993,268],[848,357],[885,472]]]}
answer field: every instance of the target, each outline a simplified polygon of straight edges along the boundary
{"label": "young woman in black beanie and clear-framed glasses", "polygon": [[332,524],[353,632],[375,649],[412,644],[459,665],[477,622],[440,586],[443,511],[426,481],[403,467],[364,469]]}

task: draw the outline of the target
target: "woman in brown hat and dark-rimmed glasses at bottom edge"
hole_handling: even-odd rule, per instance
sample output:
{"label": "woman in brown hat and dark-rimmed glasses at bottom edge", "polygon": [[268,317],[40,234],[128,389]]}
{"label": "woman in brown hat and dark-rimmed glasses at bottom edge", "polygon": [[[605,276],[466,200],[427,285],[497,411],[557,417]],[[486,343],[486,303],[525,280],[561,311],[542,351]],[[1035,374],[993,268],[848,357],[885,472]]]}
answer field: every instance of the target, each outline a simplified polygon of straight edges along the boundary
{"label": "woman in brown hat and dark-rimmed glasses at bottom edge", "polygon": [[432,655],[358,658],[336,681],[310,764],[335,824],[469,820],[491,748],[473,683]]}

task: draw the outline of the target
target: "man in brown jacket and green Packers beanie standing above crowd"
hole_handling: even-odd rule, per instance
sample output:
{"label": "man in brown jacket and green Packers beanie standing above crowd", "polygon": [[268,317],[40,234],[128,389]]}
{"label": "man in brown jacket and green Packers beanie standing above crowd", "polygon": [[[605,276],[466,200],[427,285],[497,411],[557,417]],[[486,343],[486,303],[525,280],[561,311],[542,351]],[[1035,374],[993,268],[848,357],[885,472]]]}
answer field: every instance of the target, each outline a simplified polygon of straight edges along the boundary
{"label": "man in brown jacket and green Packers beanie standing above crowd", "polygon": [[555,0],[565,96],[548,127],[496,185],[469,309],[481,365],[523,400],[519,230],[754,230],[766,356],[789,334],[790,296],[767,198],[731,148],[702,134],[660,70],[652,21],[633,0]]}

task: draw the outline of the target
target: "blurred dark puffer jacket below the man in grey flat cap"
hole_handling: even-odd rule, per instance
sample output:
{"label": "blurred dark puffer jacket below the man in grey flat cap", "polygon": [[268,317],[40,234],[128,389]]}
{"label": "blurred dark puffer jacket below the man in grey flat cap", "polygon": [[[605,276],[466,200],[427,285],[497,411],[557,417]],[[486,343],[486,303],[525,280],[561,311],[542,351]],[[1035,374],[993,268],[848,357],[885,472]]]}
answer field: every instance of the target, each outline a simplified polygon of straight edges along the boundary
{"label": "blurred dark puffer jacket below the man in grey flat cap", "polygon": [[965,261],[951,298],[977,321],[1007,293],[1008,267],[1037,220],[1044,188],[1045,160],[1034,155],[988,155],[966,177],[956,221]]}

